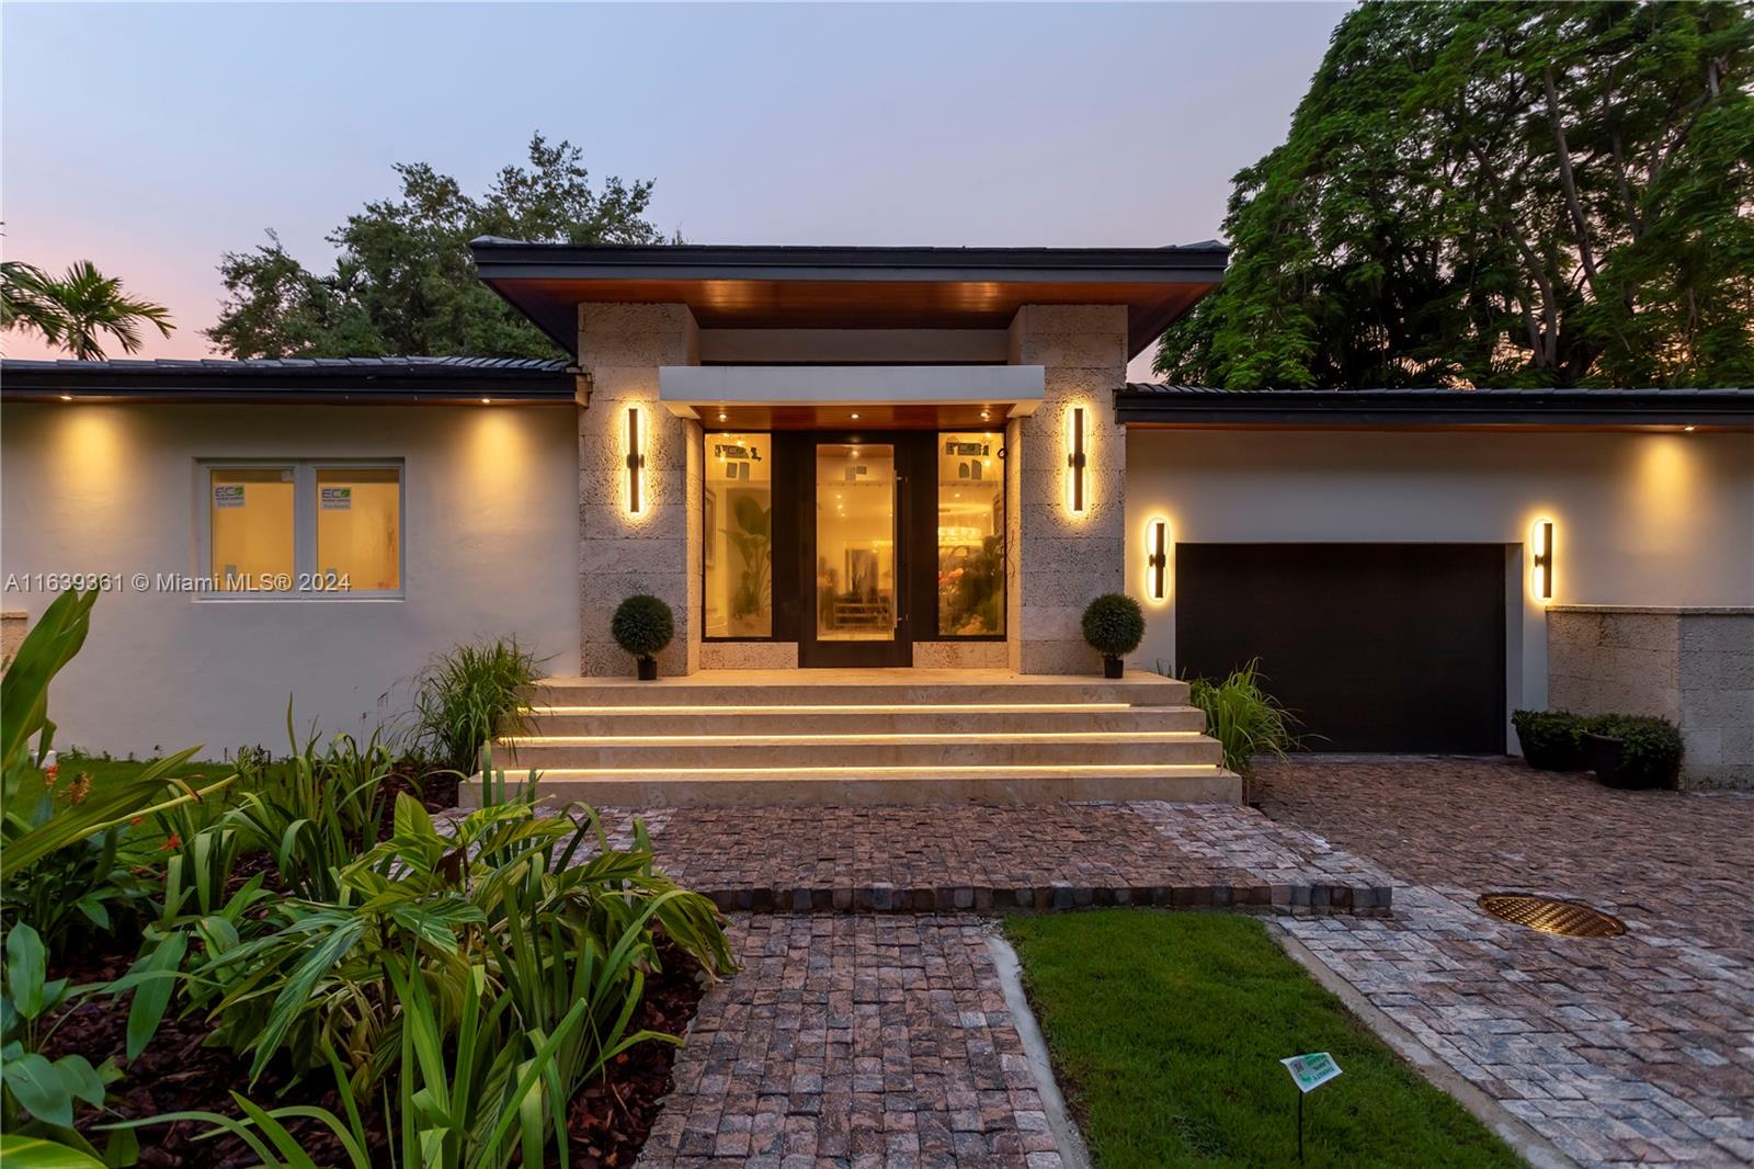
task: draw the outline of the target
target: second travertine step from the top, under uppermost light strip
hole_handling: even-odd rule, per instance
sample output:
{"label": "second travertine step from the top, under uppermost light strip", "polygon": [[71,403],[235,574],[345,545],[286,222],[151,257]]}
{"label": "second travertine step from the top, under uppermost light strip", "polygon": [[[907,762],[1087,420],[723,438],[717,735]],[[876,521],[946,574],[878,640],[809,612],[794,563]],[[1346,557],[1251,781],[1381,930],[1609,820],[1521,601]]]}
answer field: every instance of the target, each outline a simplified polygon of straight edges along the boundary
{"label": "second travertine step from the top, under uppermost light strip", "polygon": [[1054,734],[1084,730],[1205,730],[1187,706],[545,706],[528,735],[786,735],[786,734]]}

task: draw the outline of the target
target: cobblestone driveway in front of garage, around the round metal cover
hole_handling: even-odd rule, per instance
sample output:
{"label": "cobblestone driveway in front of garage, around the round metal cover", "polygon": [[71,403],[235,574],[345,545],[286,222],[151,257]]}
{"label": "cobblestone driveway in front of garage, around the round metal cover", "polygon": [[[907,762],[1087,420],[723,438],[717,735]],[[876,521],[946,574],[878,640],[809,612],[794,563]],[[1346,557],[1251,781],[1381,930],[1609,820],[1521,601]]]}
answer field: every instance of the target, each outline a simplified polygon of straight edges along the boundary
{"label": "cobblestone driveway in front of garage, around the round metal cover", "polygon": [[[1612,792],[1514,762],[1263,769],[1273,818],[1382,864],[1393,918],[1289,918],[1328,967],[1586,1165],[1754,1162],[1754,795]],[[1586,900],[1619,939],[1484,914]]]}

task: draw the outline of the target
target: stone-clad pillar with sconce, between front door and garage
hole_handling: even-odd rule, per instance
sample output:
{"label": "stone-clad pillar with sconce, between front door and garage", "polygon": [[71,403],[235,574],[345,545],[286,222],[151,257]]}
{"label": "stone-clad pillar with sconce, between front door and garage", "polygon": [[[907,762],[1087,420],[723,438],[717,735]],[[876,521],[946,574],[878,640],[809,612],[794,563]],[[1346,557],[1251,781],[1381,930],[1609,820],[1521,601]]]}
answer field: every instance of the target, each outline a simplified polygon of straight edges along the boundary
{"label": "stone-clad pillar with sconce, between front door and garage", "polygon": [[[1079,632],[1084,606],[1124,592],[1126,428],[1114,390],[1126,381],[1123,305],[1023,305],[1010,363],[1044,367],[1042,405],[1007,428],[1009,665],[1023,674],[1102,669]],[[1086,513],[1066,507],[1066,423],[1086,409]]]}

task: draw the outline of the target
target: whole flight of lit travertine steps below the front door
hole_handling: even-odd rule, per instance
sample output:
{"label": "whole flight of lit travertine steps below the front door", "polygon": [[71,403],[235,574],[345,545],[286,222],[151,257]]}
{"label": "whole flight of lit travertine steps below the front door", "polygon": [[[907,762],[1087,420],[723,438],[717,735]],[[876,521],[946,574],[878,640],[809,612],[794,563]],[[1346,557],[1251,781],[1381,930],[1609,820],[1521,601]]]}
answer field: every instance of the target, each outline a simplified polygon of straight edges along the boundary
{"label": "whole flight of lit travertine steps below the front door", "polygon": [[[560,800],[631,807],[1237,802],[1187,706],[1142,671],[700,671],[551,678],[495,764]],[[463,799],[474,792],[465,786]]]}

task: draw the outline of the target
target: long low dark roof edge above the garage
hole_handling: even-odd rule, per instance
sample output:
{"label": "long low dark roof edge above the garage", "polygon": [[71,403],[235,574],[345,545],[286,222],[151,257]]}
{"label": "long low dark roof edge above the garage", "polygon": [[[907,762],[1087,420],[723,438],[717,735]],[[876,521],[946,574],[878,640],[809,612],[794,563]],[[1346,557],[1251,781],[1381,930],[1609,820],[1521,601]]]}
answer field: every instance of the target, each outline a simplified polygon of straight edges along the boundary
{"label": "long low dark roof edge above the garage", "polygon": [[1130,381],[1116,420],[1144,427],[1754,428],[1754,390],[1214,390]]}

